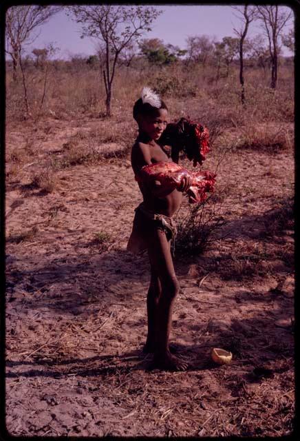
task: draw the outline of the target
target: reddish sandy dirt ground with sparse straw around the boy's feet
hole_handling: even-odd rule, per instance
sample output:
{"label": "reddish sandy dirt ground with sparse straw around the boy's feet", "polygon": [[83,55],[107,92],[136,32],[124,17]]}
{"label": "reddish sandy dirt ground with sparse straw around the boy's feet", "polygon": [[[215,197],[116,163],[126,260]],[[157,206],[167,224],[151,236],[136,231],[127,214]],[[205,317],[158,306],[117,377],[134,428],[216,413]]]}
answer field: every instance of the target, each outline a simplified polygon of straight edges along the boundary
{"label": "reddish sandy dirt ground with sparse straw around the boy's feet", "polygon": [[[149,264],[125,250],[141,200],[128,157],[57,167],[51,192],[32,185],[72,135],[97,125],[53,119],[7,129],[8,432],[292,433],[292,150],[235,150],[219,164],[213,200],[225,225],[200,256],[175,251],[171,341],[189,369],[149,371],[141,350]],[[216,163],[215,149],[203,168]],[[215,365],[213,347],[231,350],[231,365]]]}

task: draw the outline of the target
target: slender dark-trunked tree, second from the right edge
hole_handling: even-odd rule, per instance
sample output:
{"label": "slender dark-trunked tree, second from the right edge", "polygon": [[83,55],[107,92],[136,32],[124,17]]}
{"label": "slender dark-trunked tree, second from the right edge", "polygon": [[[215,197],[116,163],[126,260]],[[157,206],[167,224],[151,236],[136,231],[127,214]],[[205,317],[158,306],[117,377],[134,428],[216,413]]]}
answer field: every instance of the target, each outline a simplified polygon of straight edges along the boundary
{"label": "slender dark-trunked tree, second from the right edge", "polygon": [[[242,105],[245,104],[245,86],[244,86],[244,43],[250,23],[255,19],[255,7],[245,5],[244,8],[233,6],[239,13],[239,19],[242,18],[243,27],[239,30],[234,29],[235,33],[239,37],[239,83],[241,84],[241,101]],[[242,16],[242,17],[240,17]]]}

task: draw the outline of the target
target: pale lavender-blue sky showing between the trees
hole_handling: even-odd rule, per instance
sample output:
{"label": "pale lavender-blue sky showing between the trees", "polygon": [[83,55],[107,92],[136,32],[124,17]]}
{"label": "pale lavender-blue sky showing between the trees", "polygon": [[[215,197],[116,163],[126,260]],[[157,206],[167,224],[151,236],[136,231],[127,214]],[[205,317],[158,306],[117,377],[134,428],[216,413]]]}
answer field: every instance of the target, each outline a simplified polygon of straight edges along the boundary
{"label": "pale lavender-blue sky showing between the trees", "polygon": [[[144,38],[159,38],[164,43],[178,45],[186,48],[186,37],[190,35],[208,35],[221,41],[223,37],[235,37],[233,28],[239,28],[242,23],[235,17],[235,10],[231,6],[200,6],[200,5],[159,5],[155,6],[164,12],[153,22],[152,31],[144,34]],[[286,7],[281,6],[286,9]],[[292,27],[286,26],[284,33]],[[74,54],[94,54],[95,44],[92,39],[80,38],[81,25],[72,21],[65,12],[56,14],[48,23],[39,28],[39,37],[28,46],[27,52],[33,48],[43,48],[49,43],[54,43],[61,50],[56,58],[67,59]],[[258,23],[251,23],[248,37],[262,33]],[[283,54],[291,55],[284,48]]]}

